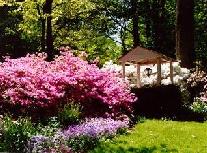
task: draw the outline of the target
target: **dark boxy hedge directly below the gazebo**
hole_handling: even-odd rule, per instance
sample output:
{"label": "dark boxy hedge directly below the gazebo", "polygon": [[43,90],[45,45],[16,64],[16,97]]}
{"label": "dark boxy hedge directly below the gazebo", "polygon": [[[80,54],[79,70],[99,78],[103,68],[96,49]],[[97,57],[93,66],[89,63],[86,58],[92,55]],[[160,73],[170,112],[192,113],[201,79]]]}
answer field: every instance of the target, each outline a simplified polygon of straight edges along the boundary
{"label": "dark boxy hedge directly below the gazebo", "polygon": [[138,97],[133,103],[136,117],[174,118],[183,106],[180,87],[175,85],[133,88],[132,92]]}

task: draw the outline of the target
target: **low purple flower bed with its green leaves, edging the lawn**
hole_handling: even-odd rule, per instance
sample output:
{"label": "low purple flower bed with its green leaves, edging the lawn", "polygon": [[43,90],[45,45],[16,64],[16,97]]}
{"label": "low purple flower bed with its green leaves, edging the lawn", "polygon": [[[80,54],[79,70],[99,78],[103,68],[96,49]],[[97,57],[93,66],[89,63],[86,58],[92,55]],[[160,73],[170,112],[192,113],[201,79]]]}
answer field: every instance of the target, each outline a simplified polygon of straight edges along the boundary
{"label": "low purple flower bed with its green leaves, edging the lawn", "polygon": [[30,152],[58,152],[64,148],[68,152],[84,152],[92,149],[101,139],[115,136],[119,130],[126,128],[126,121],[115,121],[111,118],[87,119],[79,125],[59,130],[51,137],[33,136],[28,149]]}

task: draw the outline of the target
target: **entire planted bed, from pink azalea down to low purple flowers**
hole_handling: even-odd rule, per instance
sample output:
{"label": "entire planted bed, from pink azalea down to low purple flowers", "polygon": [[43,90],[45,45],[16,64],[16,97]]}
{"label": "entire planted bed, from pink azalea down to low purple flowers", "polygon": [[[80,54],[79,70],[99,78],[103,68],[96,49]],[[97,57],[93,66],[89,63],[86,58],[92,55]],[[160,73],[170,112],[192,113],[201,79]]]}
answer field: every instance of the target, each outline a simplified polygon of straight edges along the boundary
{"label": "entire planted bed, from pink azalea down to low purple flowers", "polygon": [[128,82],[68,48],[45,58],[0,63],[1,113],[12,115],[2,118],[0,152],[85,152],[128,127],[123,117],[136,100]]}

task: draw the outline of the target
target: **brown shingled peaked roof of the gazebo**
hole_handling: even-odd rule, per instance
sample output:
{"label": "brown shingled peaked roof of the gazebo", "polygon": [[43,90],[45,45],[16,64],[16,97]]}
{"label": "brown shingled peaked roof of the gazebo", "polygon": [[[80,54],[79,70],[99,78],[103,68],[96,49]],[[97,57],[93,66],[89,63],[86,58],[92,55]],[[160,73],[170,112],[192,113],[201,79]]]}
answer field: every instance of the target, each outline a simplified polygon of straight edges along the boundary
{"label": "brown shingled peaked roof of the gazebo", "polygon": [[161,62],[175,61],[173,58],[167,57],[161,53],[138,46],[129,51],[126,55],[120,57],[119,62],[156,64],[159,58]]}

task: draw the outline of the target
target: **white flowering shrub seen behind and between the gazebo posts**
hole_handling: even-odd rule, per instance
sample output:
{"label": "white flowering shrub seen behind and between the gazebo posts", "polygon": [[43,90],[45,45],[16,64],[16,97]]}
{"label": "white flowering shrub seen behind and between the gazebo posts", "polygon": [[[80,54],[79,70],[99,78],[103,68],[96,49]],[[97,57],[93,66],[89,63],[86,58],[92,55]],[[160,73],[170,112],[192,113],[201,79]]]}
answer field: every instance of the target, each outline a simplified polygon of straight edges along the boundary
{"label": "white flowering shrub seen behind and between the gazebo posts", "polygon": [[[147,76],[144,73],[146,68],[152,70],[152,74]],[[122,66],[114,64],[112,61],[106,62],[102,69],[107,69],[113,72],[117,72],[122,75]],[[125,66],[126,79],[130,81],[131,86],[136,85],[137,68],[135,64]],[[164,63],[161,66],[162,84],[171,84],[170,81],[170,63]],[[173,63],[173,81],[175,84],[181,84],[182,80],[190,75],[190,70],[181,68],[179,62]],[[157,83],[157,64],[149,64],[140,67],[140,76],[142,85],[154,85]]]}

